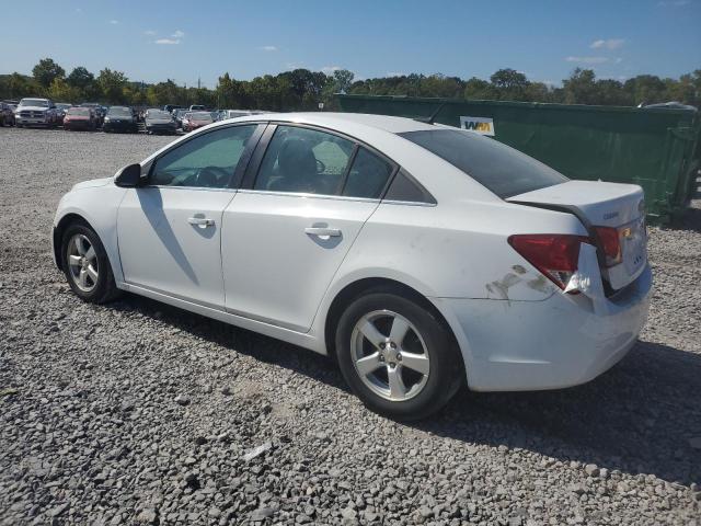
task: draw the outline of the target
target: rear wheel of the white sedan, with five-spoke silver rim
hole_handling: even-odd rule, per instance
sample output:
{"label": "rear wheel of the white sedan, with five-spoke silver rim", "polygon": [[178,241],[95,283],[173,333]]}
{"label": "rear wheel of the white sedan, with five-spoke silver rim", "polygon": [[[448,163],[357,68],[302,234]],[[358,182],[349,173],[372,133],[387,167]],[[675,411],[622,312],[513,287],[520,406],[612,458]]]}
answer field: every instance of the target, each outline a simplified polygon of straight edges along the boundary
{"label": "rear wheel of the white sedan, with five-spoke silver rim", "polygon": [[462,356],[445,322],[397,291],[369,293],[348,305],[335,351],[353,392],[370,410],[400,421],[437,412],[464,381]]}

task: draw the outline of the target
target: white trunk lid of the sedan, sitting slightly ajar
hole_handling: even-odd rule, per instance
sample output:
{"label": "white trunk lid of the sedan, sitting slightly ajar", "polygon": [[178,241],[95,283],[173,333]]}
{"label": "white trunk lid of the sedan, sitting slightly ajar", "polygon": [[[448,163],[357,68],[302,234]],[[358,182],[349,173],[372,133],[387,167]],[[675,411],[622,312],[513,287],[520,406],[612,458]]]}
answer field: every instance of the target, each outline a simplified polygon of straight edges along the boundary
{"label": "white trunk lid of the sedan, sitting slightly ajar", "polygon": [[[601,275],[613,290],[633,282],[646,266],[645,202],[643,188],[635,184],[567,181],[515,195],[506,201],[565,210],[577,216],[598,245]],[[620,245],[620,263],[607,266],[596,227],[616,229]]]}

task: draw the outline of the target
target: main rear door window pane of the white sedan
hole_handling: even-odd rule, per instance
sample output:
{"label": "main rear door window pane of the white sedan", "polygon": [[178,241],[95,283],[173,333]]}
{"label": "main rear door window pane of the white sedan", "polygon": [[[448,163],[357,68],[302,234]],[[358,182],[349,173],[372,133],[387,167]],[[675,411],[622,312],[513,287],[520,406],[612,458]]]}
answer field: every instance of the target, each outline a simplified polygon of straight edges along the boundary
{"label": "main rear door window pane of the white sedan", "polygon": [[255,190],[338,194],[353,155],[350,140],[317,129],[278,126],[255,180]]}

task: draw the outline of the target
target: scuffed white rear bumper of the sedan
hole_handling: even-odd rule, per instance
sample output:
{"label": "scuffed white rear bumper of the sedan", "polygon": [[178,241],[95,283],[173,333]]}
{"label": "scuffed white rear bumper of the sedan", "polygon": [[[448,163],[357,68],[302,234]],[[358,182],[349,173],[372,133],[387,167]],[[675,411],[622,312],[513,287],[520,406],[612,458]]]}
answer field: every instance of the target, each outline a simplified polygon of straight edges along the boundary
{"label": "scuffed white rear bumper of the sedan", "polygon": [[559,389],[618,363],[647,319],[650,266],[613,298],[555,293],[542,301],[434,298],[461,343],[478,391]]}

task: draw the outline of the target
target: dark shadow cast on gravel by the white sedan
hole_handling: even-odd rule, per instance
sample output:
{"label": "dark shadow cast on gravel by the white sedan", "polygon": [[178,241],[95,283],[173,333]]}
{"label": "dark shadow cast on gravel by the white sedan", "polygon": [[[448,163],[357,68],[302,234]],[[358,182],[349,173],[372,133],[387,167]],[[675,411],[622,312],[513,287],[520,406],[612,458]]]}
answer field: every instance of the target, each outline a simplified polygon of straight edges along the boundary
{"label": "dark shadow cast on gravel by the white sedan", "polygon": [[[252,331],[127,295],[110,305],[348,392],[329,358]],[[540,392],[462,389],[438,415],[410,424],[469,444],[522,448],[560,461],[701,482],[701,355],[639,342],[616,367],[579,387]]]}

